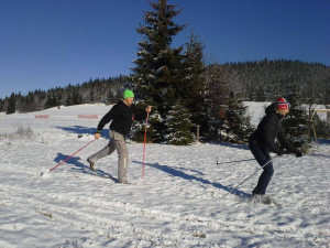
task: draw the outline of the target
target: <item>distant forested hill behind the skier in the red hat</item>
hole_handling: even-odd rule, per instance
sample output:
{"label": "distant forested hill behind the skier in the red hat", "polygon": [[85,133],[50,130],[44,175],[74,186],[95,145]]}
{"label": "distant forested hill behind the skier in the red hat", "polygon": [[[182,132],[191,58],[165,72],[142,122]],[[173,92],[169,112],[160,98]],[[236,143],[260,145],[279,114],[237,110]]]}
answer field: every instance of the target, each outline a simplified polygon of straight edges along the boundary
{"label": "distant forested hill behind the skier in the red hat", "polygon": [[237,74],[248,100],[272,100],[274,95],[299,91],[305,103],[330,104],[330,67],[323,64],[265,58],[223,67]]}

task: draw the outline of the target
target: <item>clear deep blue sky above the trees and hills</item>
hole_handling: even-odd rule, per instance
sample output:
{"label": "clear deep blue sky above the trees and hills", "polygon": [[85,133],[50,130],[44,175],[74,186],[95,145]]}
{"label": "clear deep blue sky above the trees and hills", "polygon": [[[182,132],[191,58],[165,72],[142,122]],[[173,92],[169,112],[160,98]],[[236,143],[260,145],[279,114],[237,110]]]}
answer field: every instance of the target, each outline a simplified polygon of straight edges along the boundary
{"label": "clear deep blue sky above the trees and hills", "polygon": [[[330,0],[168,0],[205,61],[330,65]],[[0,0],[0,98],[129,74],[147,0]]]}

